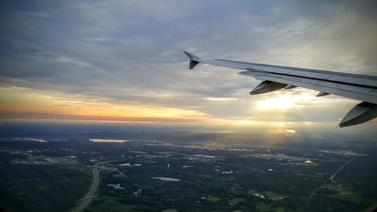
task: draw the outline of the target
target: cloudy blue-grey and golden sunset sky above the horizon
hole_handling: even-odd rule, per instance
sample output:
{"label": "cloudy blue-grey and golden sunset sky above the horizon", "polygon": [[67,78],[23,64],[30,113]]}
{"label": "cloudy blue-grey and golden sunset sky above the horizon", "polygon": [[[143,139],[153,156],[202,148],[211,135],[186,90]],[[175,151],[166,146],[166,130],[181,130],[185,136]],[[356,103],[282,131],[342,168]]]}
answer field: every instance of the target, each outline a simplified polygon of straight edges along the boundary
{"label": "cloudy blue-grey and golden sunset sky above the horizon", "polygon": [[335,128],[359,101],[303,88],[247,96],[261,81],[218,66],[189,70],[181,51],[377,75],[374,0],[0,5],[1,120]]}

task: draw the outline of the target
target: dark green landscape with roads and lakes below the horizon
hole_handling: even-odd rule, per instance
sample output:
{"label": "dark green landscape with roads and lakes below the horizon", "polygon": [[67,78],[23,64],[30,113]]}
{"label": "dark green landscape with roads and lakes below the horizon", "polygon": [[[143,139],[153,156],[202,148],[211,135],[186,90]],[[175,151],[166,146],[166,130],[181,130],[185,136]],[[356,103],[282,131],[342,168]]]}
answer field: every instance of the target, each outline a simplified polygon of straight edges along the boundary
{"label": "dark green landscape with roads and lakes below the horizon", "polygon": [[[370,135],[67,123],[8,123],[0,134],[0,209],[9,212],[363,211],[377,203]],[[98,187],[81,200],[95,170]]]}

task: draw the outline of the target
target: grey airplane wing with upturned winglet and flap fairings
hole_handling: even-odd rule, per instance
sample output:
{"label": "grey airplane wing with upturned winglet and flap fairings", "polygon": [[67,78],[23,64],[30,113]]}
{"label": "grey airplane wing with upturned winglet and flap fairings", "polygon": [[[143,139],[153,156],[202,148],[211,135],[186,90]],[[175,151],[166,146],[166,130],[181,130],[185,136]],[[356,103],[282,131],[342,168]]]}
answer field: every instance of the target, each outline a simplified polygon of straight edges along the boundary
{"label": "grey airplane wing with upturned winglet and flap fairings", "polygon": [[334,94],[362,101],[346,114],[339,124],[341,128],[361,124],[377,117],[377,76],[231,60],[204,60],[189,52],[184,51],[184,53],[190,58],[189,69],[193,69],[199,63],[207,63],[243,70],[238,74],[261,80],[262,83],[250,91],[250,95],[282,88],[302,87],[319,91],[317,97]]}

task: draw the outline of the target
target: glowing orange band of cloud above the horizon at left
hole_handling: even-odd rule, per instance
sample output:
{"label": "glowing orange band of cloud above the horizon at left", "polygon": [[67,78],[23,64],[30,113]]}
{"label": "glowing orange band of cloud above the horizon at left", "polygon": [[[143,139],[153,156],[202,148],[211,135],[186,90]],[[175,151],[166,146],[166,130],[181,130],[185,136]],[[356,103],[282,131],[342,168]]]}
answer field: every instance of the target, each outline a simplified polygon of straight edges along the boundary
{"label": "glowing orange band of cloud above the horizon at left", "polygon": [[[25,118],[153,121],[153,120],[203,120],[211,116],[199,111],[151,105],[130,105],[101,102],[81,96],[36,91],[28,88],[5,87],[0,89],[3,114],[22,114]],[[8,115],[8,118],[9,117]]]}

